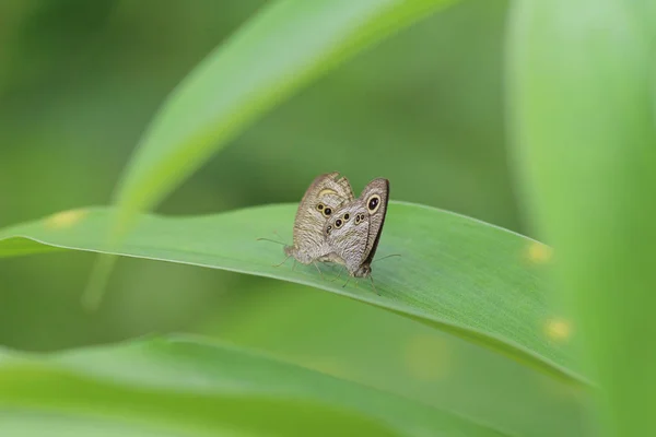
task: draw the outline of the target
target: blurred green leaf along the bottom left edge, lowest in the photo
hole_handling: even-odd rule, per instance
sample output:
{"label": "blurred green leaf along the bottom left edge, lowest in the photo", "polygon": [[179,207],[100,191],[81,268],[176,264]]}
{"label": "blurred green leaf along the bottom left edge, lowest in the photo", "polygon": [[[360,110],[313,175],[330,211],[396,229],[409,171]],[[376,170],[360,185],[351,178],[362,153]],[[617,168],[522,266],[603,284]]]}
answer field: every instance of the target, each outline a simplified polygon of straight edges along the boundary
{"label": "blurred green leaf along the bottom left edge, lowest in the photo", "polygon": [[354,382],[185,338],[42,356],[4,351],[0,388],[2,435],[89,435],[94,427],[102,436],[503,435]]}

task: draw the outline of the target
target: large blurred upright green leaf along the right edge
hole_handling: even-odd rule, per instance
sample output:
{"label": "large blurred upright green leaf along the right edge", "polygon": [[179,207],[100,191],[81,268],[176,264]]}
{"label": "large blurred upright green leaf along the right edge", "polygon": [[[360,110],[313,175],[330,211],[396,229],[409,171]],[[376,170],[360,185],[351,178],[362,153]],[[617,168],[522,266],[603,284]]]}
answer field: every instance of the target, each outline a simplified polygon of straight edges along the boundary
{"label": "large blurred upright green leaf along the right edge", "polygon": [[610,436],[656,434],[654,11],[519,1],[508,39],[517,170]]}

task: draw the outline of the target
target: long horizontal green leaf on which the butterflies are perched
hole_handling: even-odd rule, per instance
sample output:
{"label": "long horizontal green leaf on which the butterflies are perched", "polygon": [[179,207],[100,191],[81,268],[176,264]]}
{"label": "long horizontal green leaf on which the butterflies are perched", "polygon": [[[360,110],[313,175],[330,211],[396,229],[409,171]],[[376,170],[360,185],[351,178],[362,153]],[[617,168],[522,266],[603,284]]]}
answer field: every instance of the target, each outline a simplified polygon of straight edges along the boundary
{"label": "long horizontal green leaf on which the butterflies are perched", "polygon": [[[379,296],[368,282],[331,281],[338,268],[292,268],[296,205],[268,205],[200,217],[143,215],[119,249],[107,245],[110,210],[65,212],[0,232],[0,256],[61,248],[110,252],[257,274],[312,285],[464,336],[553,375],[581,379],[567,326],[547,304],[547,247],[505,229],[427,206],[390,202],[378,258]],[[280,232],[280,236],[276,235]],[[50,249],[50,248],[48,248]]]}

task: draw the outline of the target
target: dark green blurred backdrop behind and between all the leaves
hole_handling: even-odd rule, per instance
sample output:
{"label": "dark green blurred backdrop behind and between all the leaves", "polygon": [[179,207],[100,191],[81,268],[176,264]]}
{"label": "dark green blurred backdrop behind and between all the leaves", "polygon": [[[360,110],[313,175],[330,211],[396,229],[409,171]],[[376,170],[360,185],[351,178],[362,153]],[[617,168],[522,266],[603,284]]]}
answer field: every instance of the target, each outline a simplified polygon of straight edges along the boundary
{"label": "dark green blurred backdrop behind and between all the leaves", "polygon": [[[108,204],[167,93],[263,3],[0,3],[0,226]],[[505,9],[465,1],[356,57],[248,129],[157,212],[297,202],[316,175],[339,170],[356,192],[384,176],[393,199],[523,231],[504,149]],[[57,350],[206,332],[274,284],[124,259],[103,308],[87,315],[78,299],[92,261],[75,252],[3,260],[0,343]]]}

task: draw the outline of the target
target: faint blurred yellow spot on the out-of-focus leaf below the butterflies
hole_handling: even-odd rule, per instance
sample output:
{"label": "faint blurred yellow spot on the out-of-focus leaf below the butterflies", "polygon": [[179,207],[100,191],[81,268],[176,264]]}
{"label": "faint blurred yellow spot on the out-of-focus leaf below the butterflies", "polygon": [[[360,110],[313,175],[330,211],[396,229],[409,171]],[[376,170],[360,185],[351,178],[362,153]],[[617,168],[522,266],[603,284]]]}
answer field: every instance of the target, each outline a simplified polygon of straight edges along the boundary
{"label": "faint blurred yellow spot on the out-of-focus leaf below the butterflies", "polygon": [[448,375],[453,354],[444,339],[419,335],[407,344],[405,357],[412,376],[424,381],[436,381]]}

